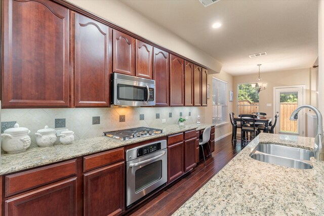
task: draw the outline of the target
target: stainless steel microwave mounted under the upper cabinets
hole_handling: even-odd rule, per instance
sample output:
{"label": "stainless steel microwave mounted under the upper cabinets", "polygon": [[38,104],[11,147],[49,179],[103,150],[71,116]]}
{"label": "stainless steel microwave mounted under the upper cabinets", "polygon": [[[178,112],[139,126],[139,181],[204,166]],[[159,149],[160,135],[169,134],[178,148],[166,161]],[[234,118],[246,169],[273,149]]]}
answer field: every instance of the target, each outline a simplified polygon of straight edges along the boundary
{"label": "stainless steel microwave mounted under the upper cabinets", "polygon": [[116,106],[155,105],[155,80],[112,73],[111,82],[111,104]]}

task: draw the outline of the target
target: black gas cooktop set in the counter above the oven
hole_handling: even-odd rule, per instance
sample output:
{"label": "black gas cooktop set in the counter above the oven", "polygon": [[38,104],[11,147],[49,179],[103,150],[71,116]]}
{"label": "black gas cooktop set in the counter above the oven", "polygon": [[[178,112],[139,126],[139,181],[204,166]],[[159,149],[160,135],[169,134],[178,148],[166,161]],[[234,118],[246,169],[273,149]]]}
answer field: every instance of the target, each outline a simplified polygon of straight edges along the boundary
{"label": "black gas cooktop set in the counter above the oven", "polygon": [[153,136],[163,133],[162,129],[150,128],[150,127],[135,127],[130,129],[123,129],[119,131],[104,132],[107,137],[112,137],[118,140],[130,140],[141,137]]}

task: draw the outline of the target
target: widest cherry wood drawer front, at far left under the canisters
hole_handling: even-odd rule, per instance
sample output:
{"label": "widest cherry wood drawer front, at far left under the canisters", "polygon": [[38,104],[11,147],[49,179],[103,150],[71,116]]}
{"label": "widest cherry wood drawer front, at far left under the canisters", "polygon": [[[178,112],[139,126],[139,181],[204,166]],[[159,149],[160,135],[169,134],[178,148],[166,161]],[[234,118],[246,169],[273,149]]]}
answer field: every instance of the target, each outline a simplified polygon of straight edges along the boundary
{"label": "widest cherry wood drawer front, at far left under the canisters", "polygon": [[6,197],[76,175],[76,159],[6,176]]}

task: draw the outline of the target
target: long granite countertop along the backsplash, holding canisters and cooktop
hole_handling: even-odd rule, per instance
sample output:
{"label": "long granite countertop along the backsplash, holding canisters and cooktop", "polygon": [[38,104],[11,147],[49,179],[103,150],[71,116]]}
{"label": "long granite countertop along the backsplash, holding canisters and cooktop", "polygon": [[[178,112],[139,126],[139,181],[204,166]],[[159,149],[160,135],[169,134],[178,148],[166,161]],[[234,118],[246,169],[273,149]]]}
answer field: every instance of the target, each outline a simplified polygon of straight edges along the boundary
{"label": "long granite countertop along the backsplash, holding canisters and cooktop", "polygon": [[73,144],[54,144],[49,147],[31,146],[20,153],[5,153],[1,155],[0,175],[9,174],[32,167],[42,166],[62,160],[67,160],[83,155],[114,149],[142,141],[165,137],[170,134],[189,131],[190,129],[203,129],[211,124],[189,124],[180,126],[178,124],[168,125],[163,129],[162,134],[151,137],[138,138],[128,141],[120,141],[113,138],[98,136],[75,140]]}

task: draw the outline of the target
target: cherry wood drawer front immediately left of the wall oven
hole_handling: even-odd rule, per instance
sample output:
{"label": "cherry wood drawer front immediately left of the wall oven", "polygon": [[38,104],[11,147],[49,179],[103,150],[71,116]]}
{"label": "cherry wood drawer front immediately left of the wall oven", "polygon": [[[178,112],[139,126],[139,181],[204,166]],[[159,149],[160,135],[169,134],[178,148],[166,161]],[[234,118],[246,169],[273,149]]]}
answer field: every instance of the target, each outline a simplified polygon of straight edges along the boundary
{"label": "cherry wood drawer front immediately left of the wall oven", "polygon": [[124,160],[124,148],[118,148],[83,158],[83,171],[89,171],[113,162]]}

